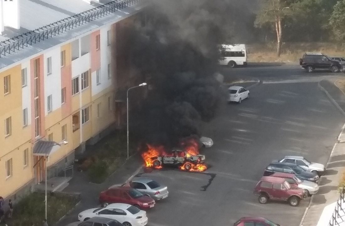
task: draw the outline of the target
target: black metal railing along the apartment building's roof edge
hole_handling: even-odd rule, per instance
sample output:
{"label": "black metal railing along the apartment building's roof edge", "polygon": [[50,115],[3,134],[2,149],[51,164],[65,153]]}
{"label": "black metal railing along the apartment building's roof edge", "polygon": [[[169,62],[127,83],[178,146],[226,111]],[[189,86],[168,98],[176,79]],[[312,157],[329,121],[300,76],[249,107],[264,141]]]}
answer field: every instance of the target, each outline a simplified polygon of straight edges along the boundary
{"label": "black metal railing along the apartment building's roof edge", "polygon": [[110,13],[128,6],[132,6],[139,1],[141,0],[124,0],[120,2],[111,1],[101,6],[75,14],[71,17],[40,27],[36,30],[2,41],[0,42],[0,58],[1,56],[11,55],[20,49],[31,46],[32,43],[49,39],[53,36],[59,35],[60,33],[64,33],[67,30],[77,28],[83,24],[89,23],[90,21],[105,17]]}

